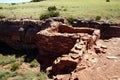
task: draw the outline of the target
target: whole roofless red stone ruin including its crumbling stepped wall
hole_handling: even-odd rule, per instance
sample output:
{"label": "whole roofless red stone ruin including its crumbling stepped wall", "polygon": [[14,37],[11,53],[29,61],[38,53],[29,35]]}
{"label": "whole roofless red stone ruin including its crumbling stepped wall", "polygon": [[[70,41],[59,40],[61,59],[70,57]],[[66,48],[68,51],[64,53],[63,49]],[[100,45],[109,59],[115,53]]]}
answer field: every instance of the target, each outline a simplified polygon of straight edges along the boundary
{"label": "whole roofless red stone ruin including its crumbling stepped wall", "polygon": [[[80,62],[80,57],[99,37],[99,30],[52,23],[50,28],[37,33],[36,45],[39,50],[37,59],[44,69],[52,65],[53,74],[71,72]],[[63,56],[65,54],[66,56]]]}

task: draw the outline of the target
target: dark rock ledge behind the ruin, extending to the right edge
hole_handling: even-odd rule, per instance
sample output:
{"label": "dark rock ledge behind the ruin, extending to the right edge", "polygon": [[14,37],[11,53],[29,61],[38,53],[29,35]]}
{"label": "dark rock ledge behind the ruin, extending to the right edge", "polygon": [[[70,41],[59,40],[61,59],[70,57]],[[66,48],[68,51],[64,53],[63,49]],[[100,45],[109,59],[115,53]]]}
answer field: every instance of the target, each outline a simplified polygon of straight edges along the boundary
{"label": "dark rock ledge behind the ruin, extending to the right edge", "polygon": [[120,23],[117,24],[117,23],[107,23],[104,21],[75,19],[73,20],[72,26],[100,29],[102,39],[109,39],[111,37],[120,37]]}

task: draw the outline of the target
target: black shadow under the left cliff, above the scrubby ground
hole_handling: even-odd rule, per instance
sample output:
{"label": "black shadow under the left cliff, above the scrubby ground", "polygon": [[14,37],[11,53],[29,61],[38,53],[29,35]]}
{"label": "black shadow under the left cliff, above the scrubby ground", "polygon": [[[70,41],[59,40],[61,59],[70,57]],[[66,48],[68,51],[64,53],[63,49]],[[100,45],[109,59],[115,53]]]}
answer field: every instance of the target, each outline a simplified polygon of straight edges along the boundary
{"label": "black shadow under the left cliff, above the scrubby ground", "polygon": [[7,44],[0,42],[0,54],[2,55],[15,55],[17,57],[24,56],[25,62],[31,62],[36,59],[38,50],[37,49],[24,49],[24,50],[15,50],[9,47]]}

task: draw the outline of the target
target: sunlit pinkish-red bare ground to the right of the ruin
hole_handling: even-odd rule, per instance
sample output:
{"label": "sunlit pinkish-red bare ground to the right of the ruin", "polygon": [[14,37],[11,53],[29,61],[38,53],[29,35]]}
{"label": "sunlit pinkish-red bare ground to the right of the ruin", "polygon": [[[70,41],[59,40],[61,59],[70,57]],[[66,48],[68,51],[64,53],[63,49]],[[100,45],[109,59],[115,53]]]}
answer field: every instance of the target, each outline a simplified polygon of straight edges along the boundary
{"label": "sunlit pinkish-red bare ground to the right of the ruin", "polygon": [[106,53],[84,54],[76,72],[58,75],[58,80],[120,80],[120,38],[99,40],[98,44],[107,47]]}

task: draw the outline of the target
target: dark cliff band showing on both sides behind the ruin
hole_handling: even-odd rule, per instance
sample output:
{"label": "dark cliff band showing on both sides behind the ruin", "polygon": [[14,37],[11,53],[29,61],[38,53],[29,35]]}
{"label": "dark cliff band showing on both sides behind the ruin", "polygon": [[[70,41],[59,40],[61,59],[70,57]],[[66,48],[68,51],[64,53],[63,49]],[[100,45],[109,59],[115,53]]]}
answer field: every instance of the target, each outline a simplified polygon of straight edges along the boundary
{"label": "dark cliff band showing on both sides behind the ruin", "polygon": [[[45,21],[40,20],[1,20],[0,21],[0,41],[7,43],[16,49],[36,48],[36,33],[50,26],[50,22],[65,22],[64,18],[50,18]],[[105,23],[102,21],[90,21],[75,19],[73,27],[88,27],[99,29],[102,39],[120,37],[120,24]]]}

